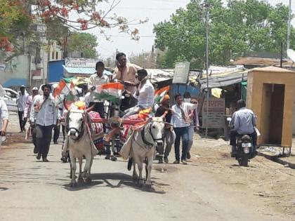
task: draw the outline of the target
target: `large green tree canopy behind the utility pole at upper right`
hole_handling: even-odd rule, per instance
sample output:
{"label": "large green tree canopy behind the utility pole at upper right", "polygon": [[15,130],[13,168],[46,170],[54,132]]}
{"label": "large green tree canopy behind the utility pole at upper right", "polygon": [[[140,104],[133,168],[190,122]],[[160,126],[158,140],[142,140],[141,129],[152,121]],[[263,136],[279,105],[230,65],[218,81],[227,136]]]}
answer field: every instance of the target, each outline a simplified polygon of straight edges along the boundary
{"label": "large green tree canopy behind the utility pole at upper right", "polygon": [[[188,60],[192,67],[204,67],[205,9],[202,1],[191,0],[179,8],[170,20],[154,26],[155,46],[164,51],[157,62],[173,67]],[[247,51],[280,52],[287,45],[288,7],[270,6],[266,1],[209,0],[209,62],[227,65],[230,59]],[[290,46],[295,46],[291,29]]]}

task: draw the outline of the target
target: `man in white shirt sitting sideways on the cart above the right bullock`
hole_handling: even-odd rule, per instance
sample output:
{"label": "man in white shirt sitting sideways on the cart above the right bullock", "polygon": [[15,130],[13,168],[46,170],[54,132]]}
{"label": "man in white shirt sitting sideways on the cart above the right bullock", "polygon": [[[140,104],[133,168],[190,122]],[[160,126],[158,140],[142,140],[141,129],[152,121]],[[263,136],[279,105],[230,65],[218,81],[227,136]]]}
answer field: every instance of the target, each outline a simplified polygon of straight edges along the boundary
{"label": "man in white shirt sitting sideways on the cart above the right bullock", "polygon": [[136,92],[133,93],[133,98],[136,98],[138,103],[135,107],[126,109],[124,116],[131,116],[142,109],[147,109],[154,105],[155,89],[147,79],[147,71],[145,69],[138,70],[138,81],[140,81],[139,86]]}

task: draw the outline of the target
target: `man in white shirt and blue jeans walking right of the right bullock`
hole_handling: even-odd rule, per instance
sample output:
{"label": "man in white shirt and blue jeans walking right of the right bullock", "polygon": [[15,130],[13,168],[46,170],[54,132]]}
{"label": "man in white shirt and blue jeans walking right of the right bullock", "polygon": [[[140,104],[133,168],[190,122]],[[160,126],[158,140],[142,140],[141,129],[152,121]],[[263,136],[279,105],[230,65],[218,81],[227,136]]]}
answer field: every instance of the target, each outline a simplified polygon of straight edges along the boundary
{"label": "man in white shirt and blue jeans walking right of the right bullock", "polygon": [[187,164],[186,157],[188,152],[188,128],[190,126],[191,119],[189,117],[189,110],[197,108],[197,104],[191,104],[188,102],[183,102],[180,94],[174,96],[176,100],[176,105],[172,106],[172,118],[171,124],[173,126],[174,132],[176,133],[176,140],[174,144],[175,158],[176,161],[173,163],[180,163],[180,145],[181,140],[183,141],[183,150],[181,155],[181,162]]}

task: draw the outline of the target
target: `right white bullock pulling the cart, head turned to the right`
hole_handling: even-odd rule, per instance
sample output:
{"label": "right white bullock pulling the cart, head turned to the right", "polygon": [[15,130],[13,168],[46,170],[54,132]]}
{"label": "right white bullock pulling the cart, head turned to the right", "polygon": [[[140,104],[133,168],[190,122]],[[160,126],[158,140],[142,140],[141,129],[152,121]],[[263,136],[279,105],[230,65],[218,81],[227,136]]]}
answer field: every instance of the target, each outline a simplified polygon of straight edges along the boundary
{"label": "right white bullock pulling the cart, head turned to the right", "polygon": [[[133,163],[133,179],[139,180],[139,184],[143,185],[143,163],[146,163],[146,180],[145,185],[151,186],[150,174],[152,172],[152,161],[156,153],[156,147],[164,145],[163,117],[152,117],[150,121],[140,130],[133,131],[131,135],[131,150],[129,157],[129,170]],[[136,164],[138,165],[139,177],[136,173]]]}

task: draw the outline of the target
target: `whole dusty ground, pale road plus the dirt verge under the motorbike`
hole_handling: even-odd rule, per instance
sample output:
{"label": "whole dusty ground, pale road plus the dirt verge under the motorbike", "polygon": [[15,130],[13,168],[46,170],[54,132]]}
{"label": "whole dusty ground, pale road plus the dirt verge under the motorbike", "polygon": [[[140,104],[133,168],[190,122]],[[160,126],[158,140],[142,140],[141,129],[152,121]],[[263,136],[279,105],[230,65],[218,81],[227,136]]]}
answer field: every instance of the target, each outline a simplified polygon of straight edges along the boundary
{"label": "whole dusty ground, pale road plus the dirt verge under the motorbike", "polygon": [[150,191],[103,156],[90,185],[70,188],[60,148],[51,145],[49,163],[31,144],[1,148],[0,220],[295,220],[293,170],[262,157],[237,167],[223,141],[197,140],[188,166],[155,163]]}

